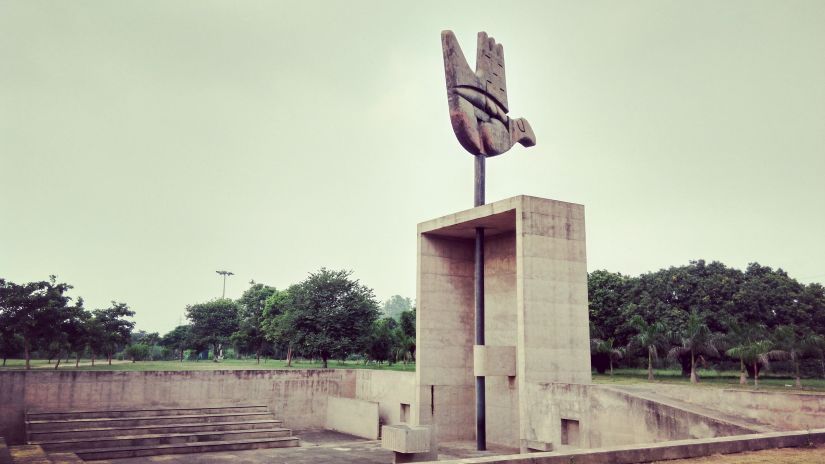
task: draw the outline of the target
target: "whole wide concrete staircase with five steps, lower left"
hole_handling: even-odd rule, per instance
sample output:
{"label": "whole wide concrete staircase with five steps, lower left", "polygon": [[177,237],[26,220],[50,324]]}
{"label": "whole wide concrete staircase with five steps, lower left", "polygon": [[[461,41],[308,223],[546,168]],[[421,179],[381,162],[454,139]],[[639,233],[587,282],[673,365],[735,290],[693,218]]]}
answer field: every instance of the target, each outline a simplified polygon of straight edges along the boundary
{"label": "whole wide concrete staircase with five steps, lower left", "polygon": [[258,405],[29,411],[26,439],[47,458],[68,452],[84,461],[299,445],[291,430]]}

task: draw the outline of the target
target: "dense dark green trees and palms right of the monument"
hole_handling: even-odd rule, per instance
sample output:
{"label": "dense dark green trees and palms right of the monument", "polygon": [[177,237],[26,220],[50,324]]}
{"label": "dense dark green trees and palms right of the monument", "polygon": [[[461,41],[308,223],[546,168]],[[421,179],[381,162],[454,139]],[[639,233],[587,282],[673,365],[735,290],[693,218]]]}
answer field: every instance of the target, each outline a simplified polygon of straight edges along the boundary
{"label": "dense dark green trees and palms right of the monument", "polygon": [[600,270],[588,294],[598,372],[645,366],[652,380],[655,364],[675,363],[696,382],[699,365],[734,367],[758,385],[776,361],[797,386],[825,377],[825,287],[782,269],[697,260],[636,277]]}

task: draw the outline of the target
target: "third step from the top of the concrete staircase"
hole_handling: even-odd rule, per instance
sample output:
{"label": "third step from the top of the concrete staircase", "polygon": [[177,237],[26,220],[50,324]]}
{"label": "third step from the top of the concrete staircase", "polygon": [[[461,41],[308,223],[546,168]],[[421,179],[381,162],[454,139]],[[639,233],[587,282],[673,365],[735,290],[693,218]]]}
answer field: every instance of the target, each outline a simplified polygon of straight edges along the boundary
{"label": "third step from the top of the concrete staircase", "polygon": [[[277,419],[254,420],[244,422],[203,422],[194,424],[141,425],[134,427],[99,427],[69,430],[50,430],[29,432],[28,441],[67,440],[71,438],[102,438],[122,435],[186,433],[186,432],[223,432],[227,430],[271,429],[283,425]],[[2,461],[0,461],[2,463]]]}

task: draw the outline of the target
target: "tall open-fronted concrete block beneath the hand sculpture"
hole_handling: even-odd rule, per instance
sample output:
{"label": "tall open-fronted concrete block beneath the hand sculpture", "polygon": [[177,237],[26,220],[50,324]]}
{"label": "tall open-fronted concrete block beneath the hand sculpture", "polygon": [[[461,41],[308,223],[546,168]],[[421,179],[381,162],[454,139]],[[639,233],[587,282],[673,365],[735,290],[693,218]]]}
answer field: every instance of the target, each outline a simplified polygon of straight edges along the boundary
{"label": "tall open-fronted concrete block beneath the hand sculpture", "polygon": [[590,383],[584,207],[518,196],[418,225],[415,424],[475,434],[473,247],[485,229],[485,338],[515,347],[515,376],[486,380],[487,441],[549,442],[539,384]]}

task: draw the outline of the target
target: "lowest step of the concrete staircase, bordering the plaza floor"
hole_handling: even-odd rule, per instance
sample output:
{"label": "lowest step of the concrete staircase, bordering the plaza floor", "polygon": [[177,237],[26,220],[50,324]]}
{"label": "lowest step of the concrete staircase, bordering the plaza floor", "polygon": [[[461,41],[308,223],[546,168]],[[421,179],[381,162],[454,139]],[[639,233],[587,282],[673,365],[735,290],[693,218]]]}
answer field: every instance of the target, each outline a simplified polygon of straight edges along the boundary
{"label": "lowest step of the concrete staircase, bordering the plaza floor", "polygon": [[85,449],[75,454],[84,461],[102,459],[134,458],[162,454],[211,453],[216,451],[238,451],[260,448],[288,448],[300,445],[296,437],[266,438],[258,440],[211,441],[176,443],[172,445],[134,446],[128,448]]}

